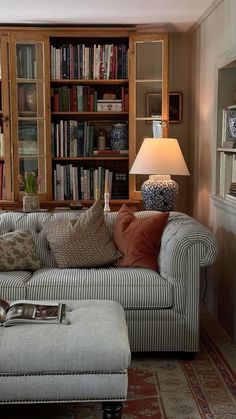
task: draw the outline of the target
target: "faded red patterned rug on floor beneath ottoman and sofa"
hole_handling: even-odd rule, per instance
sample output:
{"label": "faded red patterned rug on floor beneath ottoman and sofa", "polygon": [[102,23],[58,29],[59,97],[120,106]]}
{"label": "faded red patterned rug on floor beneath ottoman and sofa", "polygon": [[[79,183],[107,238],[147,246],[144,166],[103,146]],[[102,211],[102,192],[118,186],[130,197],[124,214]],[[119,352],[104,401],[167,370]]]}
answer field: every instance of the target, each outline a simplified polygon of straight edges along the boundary
{"label": "faded red patterned rug on floor beneath ottoman and sofa", "polygon": [[[102,418],[99,403],[1,406],[1,419]],[[194,360],[133,354],[123,419],[236,419],[236,345],[207,313]]]}

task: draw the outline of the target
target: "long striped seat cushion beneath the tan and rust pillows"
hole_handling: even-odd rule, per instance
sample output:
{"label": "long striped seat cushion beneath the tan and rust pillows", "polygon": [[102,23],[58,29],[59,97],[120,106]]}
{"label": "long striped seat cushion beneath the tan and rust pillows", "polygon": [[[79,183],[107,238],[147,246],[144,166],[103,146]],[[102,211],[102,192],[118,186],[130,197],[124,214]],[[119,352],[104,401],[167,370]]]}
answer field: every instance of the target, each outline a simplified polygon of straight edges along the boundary
{"label": "long striped seat cushion beneath the tan and rust pillows", "polygon": [[127,309],[168,308],[173,285],[144,268],[44,268],[27,283],[27,298],[37,300],[115,300]]}

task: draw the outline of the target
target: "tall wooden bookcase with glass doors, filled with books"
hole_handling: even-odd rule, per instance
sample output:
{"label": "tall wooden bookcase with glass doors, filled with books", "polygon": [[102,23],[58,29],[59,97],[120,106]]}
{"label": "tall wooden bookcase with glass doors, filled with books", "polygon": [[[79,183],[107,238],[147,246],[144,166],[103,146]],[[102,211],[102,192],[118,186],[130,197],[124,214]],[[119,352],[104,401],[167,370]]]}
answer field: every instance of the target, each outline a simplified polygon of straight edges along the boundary
{"label": "tall wooden bookcase with glass doors, filled with books", "polygon": [[[112,209],[137,209],[140,182],[129,168],[152,136],[150,92],[161,95],[168,124],[167,35],[117,27],[6,27],[0,35],[1,208],[22,206],[17,176],[38,170],[43,208],[91,205],[107,181]],[[127,126],[126,153],[109,152],[116,124]],[[101,135],[106,151],[98,154]]]}

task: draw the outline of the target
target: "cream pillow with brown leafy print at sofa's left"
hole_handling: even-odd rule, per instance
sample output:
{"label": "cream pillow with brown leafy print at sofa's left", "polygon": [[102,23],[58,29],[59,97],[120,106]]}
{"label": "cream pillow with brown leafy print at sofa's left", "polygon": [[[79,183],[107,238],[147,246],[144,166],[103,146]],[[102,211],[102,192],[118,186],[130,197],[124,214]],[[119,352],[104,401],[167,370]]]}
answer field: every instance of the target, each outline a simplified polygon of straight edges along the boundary
{"label": "cream pillow with brown leafy print at sofa's left", "polygon": [[28,230],[15,230],[0,236],[0,271],[36,271],[40,265]]}

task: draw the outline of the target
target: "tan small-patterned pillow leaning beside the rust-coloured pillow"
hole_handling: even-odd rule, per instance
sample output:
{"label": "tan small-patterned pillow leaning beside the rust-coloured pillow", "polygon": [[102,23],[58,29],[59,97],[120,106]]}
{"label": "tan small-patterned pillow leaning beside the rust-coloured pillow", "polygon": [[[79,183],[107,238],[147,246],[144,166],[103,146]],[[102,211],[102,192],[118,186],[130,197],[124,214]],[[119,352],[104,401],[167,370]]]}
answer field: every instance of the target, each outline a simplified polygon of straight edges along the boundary
{"label": "tan small-patterned pillow leaning beside the rust-coloured pillow", "polygon": [[59,268],[104,266],[120,257],[99,201],[72,220],[47,221],[43,230]]}

